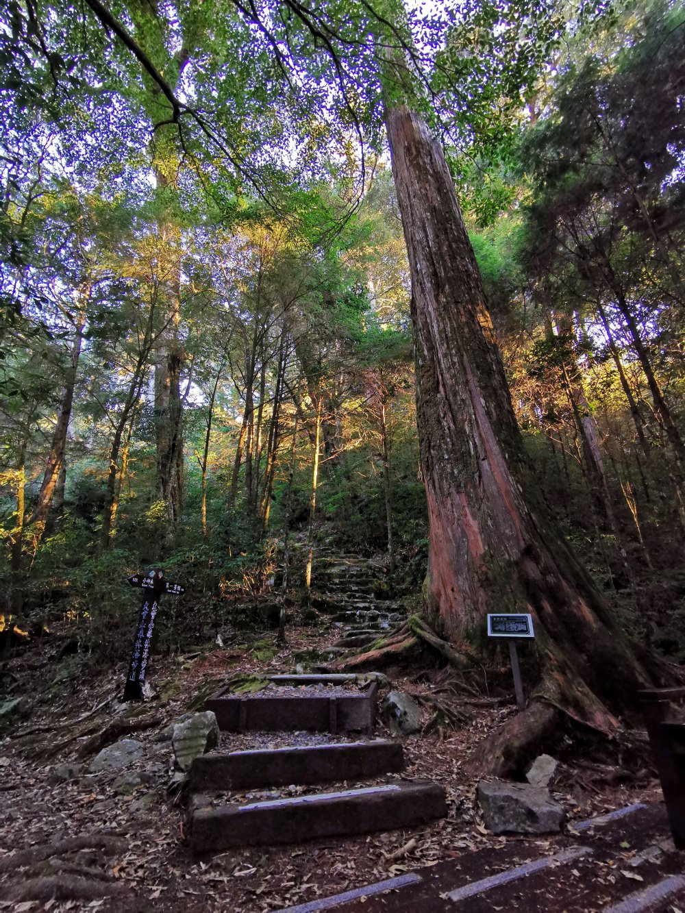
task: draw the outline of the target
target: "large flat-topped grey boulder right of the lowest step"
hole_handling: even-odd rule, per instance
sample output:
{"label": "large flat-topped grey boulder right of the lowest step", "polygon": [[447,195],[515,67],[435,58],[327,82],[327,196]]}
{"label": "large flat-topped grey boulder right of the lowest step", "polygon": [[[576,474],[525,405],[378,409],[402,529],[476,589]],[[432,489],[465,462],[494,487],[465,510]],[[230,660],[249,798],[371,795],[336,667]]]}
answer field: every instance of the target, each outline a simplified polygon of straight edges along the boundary
{"label": "large flat-topped grey boulder right of the lowest step", "polygon": [[492,834],[551,834],[561,830],[564,809],[548,792],[531,783],[480,781],[478,800]]}

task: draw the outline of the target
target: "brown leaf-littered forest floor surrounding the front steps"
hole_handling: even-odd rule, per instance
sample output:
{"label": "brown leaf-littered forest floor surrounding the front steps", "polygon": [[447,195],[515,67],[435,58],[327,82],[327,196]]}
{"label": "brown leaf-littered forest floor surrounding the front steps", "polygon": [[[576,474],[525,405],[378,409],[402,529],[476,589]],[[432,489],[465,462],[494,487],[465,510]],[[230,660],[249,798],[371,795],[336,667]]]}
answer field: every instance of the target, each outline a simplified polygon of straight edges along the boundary
{"label": "brown leaf-littered forest floor surrounding the front steps", "polygon": [[[259,658],[259,649],[246,653],[237,645],[191,657],[155,658],[151,677],[157,695],[133,708],[119,703],[125,666],[97,671],[82,665],[78,656],[58,663],[58,634],[10,660],[13,692],[26,696],[30,712],[0,741],[0,846],[5,850],[0,908],[267,911],[487,847],[532,840],[549,846],[564,839],[564,834],[541,841],[487,832],[474,802],[476,781],[466,768],[480,740],[515,708],[480,707],[441,693],[441,699],[466,715],[463,726],[408,737],[403,744],[406,776],[444,785],[448,818],[387,834],[194,858],[185,843],[182,797],[166,789],[172,755],[166,728],[189,707],[201,707],[227,676],[290,671],[293,651],[324,648],[336,636],[334,631],[291,628],[288,646],[268,660]],[[268,639],[275,644],[274,635]],[[262,635],[259,644],[264,643]],[[420,677],[393,675],[392,681],[395,688],[420,696],[444,675],[436,670]],[[428,709],[426,714],[428,718]],[[376,734],[398,738],[382,722]],[[133,784],[132,792],[125,778],[121,783],[121,771],[90,774],[87,769],[103,744],[124,736],[145,745],[147,782]],[[238,741],[236,737],[236,747],[241,747]],[[230,750],[231,745],[232,737],[223,734],[222,747]],[[569,822],[661,800],[652,771],[629,774],[578,757],[580,747],[574,756],[570,741],[566,747],[572,760],[560,766],[553,794]],[[68,762],[84,766],[75,771],[75,779],[62,782],[59,771]],[[627,847],[624,855],[630,852]],[[111,897],[102,897],[103,889]],[[39,899],[28,899],[32,891]]]}

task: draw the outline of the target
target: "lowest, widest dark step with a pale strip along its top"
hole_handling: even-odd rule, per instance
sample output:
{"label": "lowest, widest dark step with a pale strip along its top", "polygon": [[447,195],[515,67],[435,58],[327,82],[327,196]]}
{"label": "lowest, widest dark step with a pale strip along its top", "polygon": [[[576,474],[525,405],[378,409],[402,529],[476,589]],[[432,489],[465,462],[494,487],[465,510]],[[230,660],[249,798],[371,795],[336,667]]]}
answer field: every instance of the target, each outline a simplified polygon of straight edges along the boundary
{"label": "lowest, widest dark step with a pale strip along its top", "polygon": [[389,831],[446,815],[445,790],[437,783],[401,782],[248,805],[207,804],[191,815],[190,840],[195,853],[210,853]]}

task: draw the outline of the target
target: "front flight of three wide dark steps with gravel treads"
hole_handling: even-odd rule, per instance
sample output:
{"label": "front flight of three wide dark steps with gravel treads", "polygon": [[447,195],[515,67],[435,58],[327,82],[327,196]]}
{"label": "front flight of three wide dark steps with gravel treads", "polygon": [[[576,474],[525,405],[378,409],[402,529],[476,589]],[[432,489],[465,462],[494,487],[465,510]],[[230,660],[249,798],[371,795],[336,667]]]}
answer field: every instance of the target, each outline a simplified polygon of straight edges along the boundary
{"label": "front flight of three wide dark steps with gravel treads", "polygon": [[[225,729],[255,732],[261,740],[271,732],[280,747],[216,750],[193,761],[189,824],[196,854],[413,827],[447,814],[441,786],[401,777],[405,759],[399,742],[371,733],[360,739],[359,729],[373,729],[373,716],[368,726],[365,712],[360,712],[363,705],[374,708],[373,677],[328,678],[333,681],[325,676],[275,676],[275,687],[267,689],[266,697],[222,690],[207,701]],[[359,678],[358,693],[341,694],[341,678],[348,679],[348,692],[352,679]],[[321,694],[320,686],[330,689],[330,697]],[[300,697],[293,697],[297,690]],[[356,701],[353,712],[343,709],[345,701]],[[222,707],[222,702],[230,707]],[[279,704],[280,714],[275,712]],[[330,741],[317,743],[311,733],[322,729]],[[285,733],[290,733],[290,743],[283,746]],[[312,789],[322,783],[332,784],[332,789]],[[284,786],[287,790],[278,789]]]}

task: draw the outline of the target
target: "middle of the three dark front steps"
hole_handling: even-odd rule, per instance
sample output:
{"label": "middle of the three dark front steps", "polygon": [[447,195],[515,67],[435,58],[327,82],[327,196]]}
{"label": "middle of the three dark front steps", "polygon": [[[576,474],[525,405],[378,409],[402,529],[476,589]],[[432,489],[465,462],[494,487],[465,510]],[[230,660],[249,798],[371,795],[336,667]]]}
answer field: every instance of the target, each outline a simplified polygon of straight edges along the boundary
{"label": "middle of the three dark front steps", "polygon": [[362,780],[404,767],[402,745],[385,739],[334,745],[210,751],[190,768],[191,792],[225,792],[290,783]]}

